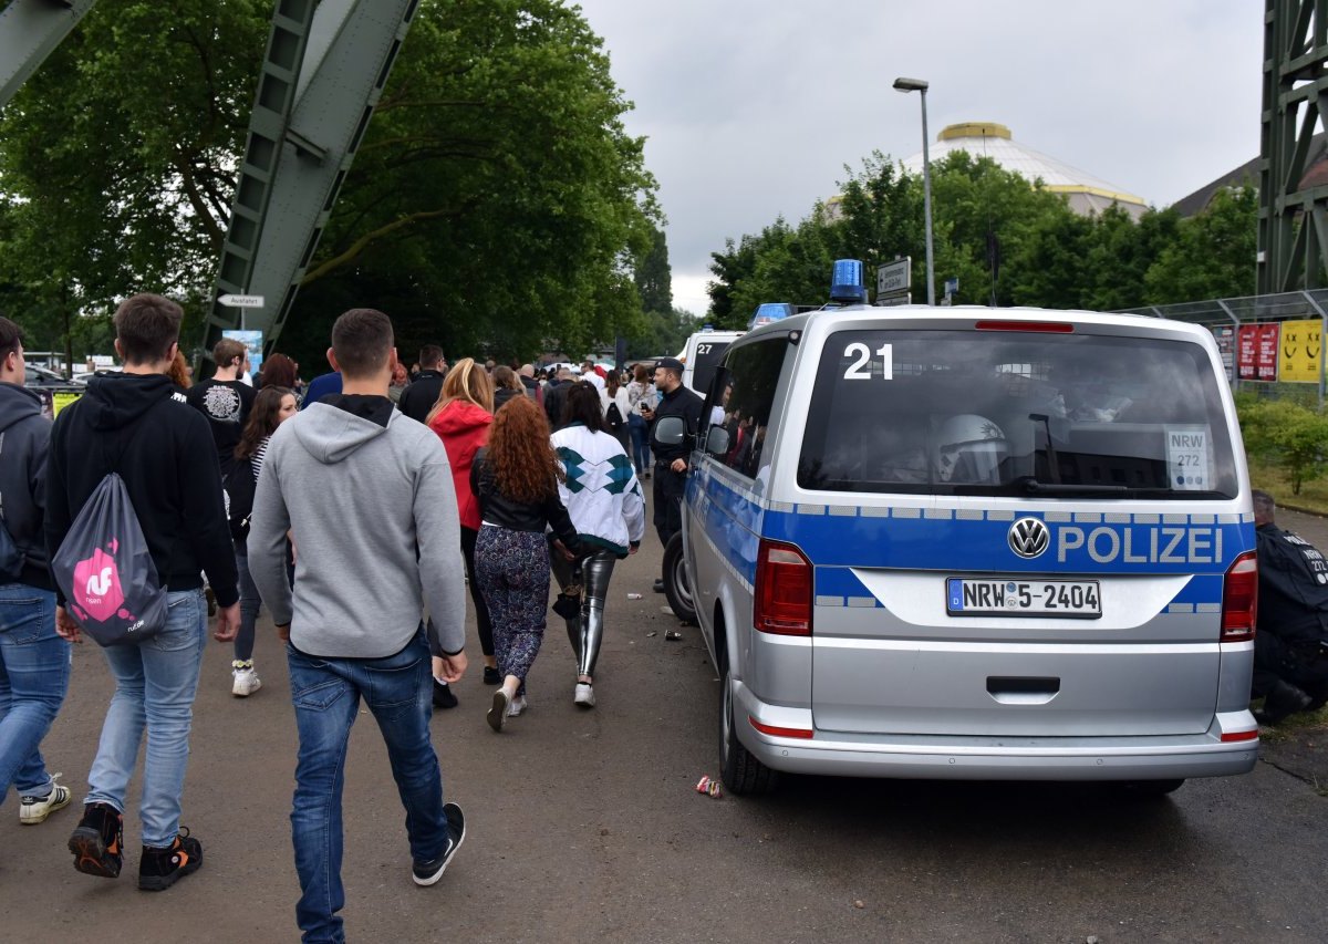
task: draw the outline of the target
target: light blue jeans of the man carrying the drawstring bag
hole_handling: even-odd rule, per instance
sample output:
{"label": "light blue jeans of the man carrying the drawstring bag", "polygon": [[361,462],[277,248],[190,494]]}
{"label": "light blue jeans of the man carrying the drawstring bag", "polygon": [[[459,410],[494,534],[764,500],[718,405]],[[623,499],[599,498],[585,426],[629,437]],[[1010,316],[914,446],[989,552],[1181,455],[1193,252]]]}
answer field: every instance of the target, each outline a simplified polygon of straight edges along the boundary
{"label": "light blue jeans of the man carrying the drawstring bag", "polygon": [[161,632],[135,645],[102,649],[116,677],[116,694],[101,728],[101,744],[88,774],[90,791],[84,801],[109,803],[124,813],[146,726],[147,755],[138,806],[143,846],[170,846],[179,832],[189,729],[207,633],[202,590],[175,591],[166,599],[166,627]]}

